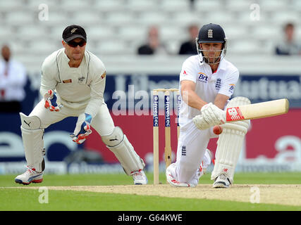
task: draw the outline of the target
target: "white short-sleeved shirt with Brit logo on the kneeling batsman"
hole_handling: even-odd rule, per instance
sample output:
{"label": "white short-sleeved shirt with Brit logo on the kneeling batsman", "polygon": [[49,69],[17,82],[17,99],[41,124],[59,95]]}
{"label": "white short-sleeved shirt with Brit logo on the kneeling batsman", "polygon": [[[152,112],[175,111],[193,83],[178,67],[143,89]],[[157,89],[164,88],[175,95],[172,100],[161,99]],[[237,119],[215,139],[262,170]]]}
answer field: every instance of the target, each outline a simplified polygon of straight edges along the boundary
{"label": "white short-sleeved shirt with Brit logo on the kneeling batsman", "polygon": [[[219,68],[212,73],[210,66],[207,63],[199,63],[199,56],[190,56],[185,60],[180,72],[180,82],[190,80],[196,83],[195,92],[207,103],[214,103],[217,94],[224,94],[231,97],[235,84],[238,82],[238,68],[223,59],[219,63]],[[179,87],[180,89],[180,87]],[[200,111],[190,107],[182,100],[180,103],[179,121],[180,124],[185,124]]]}

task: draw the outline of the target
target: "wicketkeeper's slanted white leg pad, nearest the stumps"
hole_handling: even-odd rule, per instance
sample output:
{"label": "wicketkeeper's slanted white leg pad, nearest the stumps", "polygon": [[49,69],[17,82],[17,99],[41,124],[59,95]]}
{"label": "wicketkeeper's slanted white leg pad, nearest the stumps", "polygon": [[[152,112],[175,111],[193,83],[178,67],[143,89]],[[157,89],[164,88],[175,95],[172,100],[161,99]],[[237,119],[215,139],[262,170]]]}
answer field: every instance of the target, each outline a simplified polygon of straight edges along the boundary
{"label": "wicketkeeper's slanted white leg pad, nearest the stumps", "polygon": [[102,136],[102,141],[114,153],[119,162],[121,162],[121,166],[126,174],[130,175],[131,172],[145,167],[145,163],[137,155],[120,127],[115,127],[112,134]]}

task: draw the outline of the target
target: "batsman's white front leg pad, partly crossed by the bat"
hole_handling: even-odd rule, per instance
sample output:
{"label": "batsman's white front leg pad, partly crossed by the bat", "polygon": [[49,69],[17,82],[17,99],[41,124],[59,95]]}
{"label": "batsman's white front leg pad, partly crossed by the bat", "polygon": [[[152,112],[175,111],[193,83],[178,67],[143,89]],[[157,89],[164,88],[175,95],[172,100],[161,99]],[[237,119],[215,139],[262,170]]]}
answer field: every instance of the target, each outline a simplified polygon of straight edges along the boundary
{"label": "batsman's white front leg pad, partly crossed by the bat", "polygon": [[[227,108],[247,104],[250,104],[248,98],[236,97],[228,103]],[[249,125],[250,120],[228,122],[221,125],[223,132],[219,135],[219,140],[217,141],[216,159],[211,179],[214,180],[217,176],[226,174],[231,184],[233,184],[235,166],[238,162],[240,150]]]}

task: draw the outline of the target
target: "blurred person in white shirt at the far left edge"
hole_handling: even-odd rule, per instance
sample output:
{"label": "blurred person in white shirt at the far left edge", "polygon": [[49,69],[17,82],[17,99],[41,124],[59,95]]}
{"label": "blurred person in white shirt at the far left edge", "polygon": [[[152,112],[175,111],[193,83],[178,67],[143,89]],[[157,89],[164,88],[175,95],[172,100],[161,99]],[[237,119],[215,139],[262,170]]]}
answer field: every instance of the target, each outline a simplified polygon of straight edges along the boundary
{"label": "blurred person in white shirt at the far left edge", "polygon": [[27,82],[25,68],[11,59],[11,49],[7,45],[2,46],[1,56],[0,113],[20,113]]}

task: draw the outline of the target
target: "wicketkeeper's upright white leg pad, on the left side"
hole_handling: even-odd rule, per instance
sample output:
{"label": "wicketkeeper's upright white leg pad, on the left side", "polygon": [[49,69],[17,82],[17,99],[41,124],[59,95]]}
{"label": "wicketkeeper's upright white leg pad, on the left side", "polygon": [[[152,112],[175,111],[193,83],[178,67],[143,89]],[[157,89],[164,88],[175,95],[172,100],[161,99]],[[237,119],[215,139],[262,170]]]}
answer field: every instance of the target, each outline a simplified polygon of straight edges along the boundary
{"label": "wicketkeeper's upright white leg pad, on the left side", "polygon": [[25,158],[27,166],[35,168],[37,172],[44,170],[44,131],[41,129],[41,122],[39,117],[27,117],[20,113],[21,118],[21,132],[23,139],[23,146],[25,151]]}

